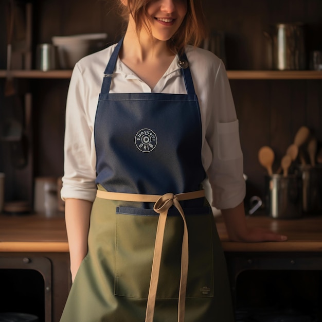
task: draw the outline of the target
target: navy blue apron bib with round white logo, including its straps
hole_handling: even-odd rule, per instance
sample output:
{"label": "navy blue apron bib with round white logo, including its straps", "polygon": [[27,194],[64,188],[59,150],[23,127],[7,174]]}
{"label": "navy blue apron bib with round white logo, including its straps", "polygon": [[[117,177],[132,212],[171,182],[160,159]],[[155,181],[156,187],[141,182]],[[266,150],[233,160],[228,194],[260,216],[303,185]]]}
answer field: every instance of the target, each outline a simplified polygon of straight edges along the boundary
{"label": "navy blue apron bib with round white logo, including its straps", "polygon": [[104,71],[97,106],[96,183],[124,193],[200,190],[201,116],[189,67],[181,69],[188,94],[109,93],[121,45]]}

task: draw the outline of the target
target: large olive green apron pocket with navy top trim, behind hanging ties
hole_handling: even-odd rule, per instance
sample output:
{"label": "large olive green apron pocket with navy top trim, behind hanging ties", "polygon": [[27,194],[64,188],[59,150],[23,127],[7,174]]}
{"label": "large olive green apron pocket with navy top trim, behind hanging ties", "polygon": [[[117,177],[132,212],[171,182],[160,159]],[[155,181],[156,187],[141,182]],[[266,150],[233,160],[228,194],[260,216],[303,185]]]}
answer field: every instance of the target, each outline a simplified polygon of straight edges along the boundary
{"label": "large olive green apron pocket with navy top trim, behind hanging ties", "polygon": [[[184,209],[189,234],[186,297],[213,296],[212,214],[209,207]],[[149,293],[158,214],[152,209],[117,207],[115,295],[146,299]],[[169,209],[157,299],[177,299],[183,220]]]}

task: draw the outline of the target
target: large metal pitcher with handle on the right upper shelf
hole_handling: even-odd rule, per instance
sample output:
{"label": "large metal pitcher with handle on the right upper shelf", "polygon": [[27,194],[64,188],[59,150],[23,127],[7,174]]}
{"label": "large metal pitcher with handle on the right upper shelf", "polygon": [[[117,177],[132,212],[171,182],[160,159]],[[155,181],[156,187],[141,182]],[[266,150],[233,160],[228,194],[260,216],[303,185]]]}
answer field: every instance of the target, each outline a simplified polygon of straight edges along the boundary
{"label": "large metal pitcher with handle on the right upper shelf", "polygon": [[277,23],[271,26],[269,37],[272,69],[306,69],[305,37],[302,23]]}

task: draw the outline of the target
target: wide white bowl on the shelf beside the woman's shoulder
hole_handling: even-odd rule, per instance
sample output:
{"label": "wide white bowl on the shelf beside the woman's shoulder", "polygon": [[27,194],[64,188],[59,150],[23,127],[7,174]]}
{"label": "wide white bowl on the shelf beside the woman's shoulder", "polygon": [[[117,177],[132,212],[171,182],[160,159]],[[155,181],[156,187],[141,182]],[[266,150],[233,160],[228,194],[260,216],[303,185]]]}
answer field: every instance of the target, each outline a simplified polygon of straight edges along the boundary
{"label": "wide white bowl on the shelf beside the woman's shoulder", "polygon": [[84,56],[100,50],[106,44],[106,33],[84,33],[52,37],[57,46],[60,68],[71,69]]}

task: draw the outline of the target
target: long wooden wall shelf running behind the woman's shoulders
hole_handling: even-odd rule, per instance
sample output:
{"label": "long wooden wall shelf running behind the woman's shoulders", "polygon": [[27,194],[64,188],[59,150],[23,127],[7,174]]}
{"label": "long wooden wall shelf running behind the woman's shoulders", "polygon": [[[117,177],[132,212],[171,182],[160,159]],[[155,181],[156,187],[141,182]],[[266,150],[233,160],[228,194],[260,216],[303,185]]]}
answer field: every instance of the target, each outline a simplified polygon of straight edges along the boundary
{"label": "long wooden wall shelf running behind the woman's shoulders", "polygon": [[[71,70],[12,70],[10,74],[14,78],[68,79]],[[6,75],[6,70],[0,70],[0,78]],[[322,71],[316,70],[228,70],[227,75],[229,79],[241,80],[322,79]]]}

